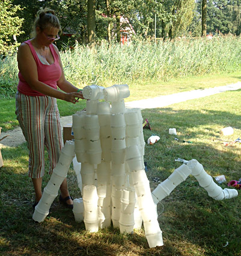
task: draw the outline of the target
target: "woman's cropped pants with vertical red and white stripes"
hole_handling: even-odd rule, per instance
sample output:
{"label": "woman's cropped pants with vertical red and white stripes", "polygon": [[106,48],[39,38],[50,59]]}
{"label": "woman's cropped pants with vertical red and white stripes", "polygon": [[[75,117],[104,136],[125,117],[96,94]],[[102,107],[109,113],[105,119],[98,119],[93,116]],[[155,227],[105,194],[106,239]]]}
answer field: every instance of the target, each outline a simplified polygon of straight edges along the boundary
{"label": "woman's cropped pants with vertical red and white stripes", "polygon": [[29,177],[41,178],[44,175],[44,145],[49,155],[49,173],[52,173],[63,148],[56,99],[17,92],[16,115],[28,143]]}

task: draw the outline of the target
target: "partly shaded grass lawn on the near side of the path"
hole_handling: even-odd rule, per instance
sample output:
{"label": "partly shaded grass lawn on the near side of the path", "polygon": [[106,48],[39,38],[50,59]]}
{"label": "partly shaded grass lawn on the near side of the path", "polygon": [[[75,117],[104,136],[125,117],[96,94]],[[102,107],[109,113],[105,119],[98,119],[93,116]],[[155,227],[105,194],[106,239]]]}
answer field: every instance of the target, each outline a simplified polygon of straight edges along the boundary
{"label": "partly shaded grass lawn on the near side of the path", "polygon": [[[226,82],[239,80],[238,76],[230,79]],[[198,85],[196,81],[192,89],[201,87],[202,83]],[[221,84],[212,81],[212,86],[217,85]],[[175,86],[179,92],[182,90],[181,83]],[[144,129],[145,141],[153,133],[160,136],[159,142],[145,146],[151,190],[180,166],[175,161],[178,157],[197,159],[209,175],[225,175],[227,182],[220,185],[223,189],[228,181],[241,178],[241,144],[223,144],[241,137],[240,93],[241,90],[219,93],[142,111],[153,128]],[[234,134],[221,136],[219,131],[225,126],[233,126]],[[177,136],[169,135],[169,128],[176,128]],[[144,229],[120,234],[118,229],[110,227],[88,233],[84,223],[76,223],[72,211],[61,207],[57,199],[44,222],[34,223],[31,207],[34,190],[26,174],[26,144],[3,148],[2,155],[5,165],[0,172],[0,255],[241,256],[240,195],[215,201],[194,176],[189,176],[157,205],[164,246],[150,249]],[[46,169],[47,164],[46,155]],[[44,175],[43,187],[48,180],[49,175]],[[68,182],[73,198],[81,197],[72,167]]]}

